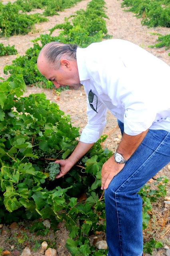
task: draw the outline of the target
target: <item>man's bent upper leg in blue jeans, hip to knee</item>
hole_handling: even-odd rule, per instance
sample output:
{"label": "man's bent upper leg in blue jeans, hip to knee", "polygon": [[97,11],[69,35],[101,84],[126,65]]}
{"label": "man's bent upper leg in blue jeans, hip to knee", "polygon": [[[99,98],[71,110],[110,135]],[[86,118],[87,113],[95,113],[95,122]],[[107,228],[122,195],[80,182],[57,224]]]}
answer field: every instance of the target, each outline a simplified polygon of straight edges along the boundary
{"label": "man's bent upper leg in blue jeans, hip to knee", "polygon": [[134,154],[110,182],[114,192],[135,193],[170,162],[170,132],[149,130]]}

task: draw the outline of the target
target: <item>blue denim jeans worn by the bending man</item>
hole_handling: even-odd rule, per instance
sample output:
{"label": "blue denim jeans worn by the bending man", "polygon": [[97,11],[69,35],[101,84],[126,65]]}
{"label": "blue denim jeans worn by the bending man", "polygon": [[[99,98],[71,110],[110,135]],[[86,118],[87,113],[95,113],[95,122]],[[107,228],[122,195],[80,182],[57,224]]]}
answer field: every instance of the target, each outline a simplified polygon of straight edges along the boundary
{"label": "blue denim jeans worn by the bending man", "polygon": [[[124,126],[118,122],[122,132]],[[108,256],[141,256],[144,184],[170,162],[170,132],[149,130],[134,154],[105,190]]]}

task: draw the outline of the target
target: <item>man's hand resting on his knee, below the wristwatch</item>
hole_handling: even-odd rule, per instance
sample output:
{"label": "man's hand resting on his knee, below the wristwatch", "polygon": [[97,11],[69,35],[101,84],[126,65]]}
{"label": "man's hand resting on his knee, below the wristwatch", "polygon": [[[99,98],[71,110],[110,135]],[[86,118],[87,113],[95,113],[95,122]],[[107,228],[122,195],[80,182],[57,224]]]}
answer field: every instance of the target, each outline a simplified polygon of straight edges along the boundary
{"label": "man's hand resting on his knee, below the wristwatch", "polygon": [[112,178],[124,168],[124,165],[125,164],[117,164],[114,161],[114,156],[111,156],[104,163],[102,167],[102,190],[108,188]]}

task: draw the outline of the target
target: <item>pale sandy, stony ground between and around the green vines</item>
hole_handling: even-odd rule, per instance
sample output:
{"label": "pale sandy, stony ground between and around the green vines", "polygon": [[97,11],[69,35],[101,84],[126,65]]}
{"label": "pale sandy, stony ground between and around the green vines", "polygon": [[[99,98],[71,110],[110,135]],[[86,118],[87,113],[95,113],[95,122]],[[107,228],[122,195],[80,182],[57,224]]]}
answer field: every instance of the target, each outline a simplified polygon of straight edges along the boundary
{"label": "pale sandy, stony ground between and around the green vines", "polygon": [[[31,40],[38,37],[40,34],[48,33],[49,28],[52,28],[57,23],[64,22],[64,17],[74,14],[76,10],[86,8],[88,2],[90,2],[90,0],[84,0],[78,3],[76,6],[65,10],[64,12],[59,12],[60,15],[48,17],[49,22],[37,24],[35,29],[28,35],[0,38],[0,43],[3,43],[4,45],[15,44],[18,54],[23,55],[26,49],[32,46]],[[158,36],[152,33],[160,33],[163,35],[170,34],[170,28],[147,28],[146,26],[141,26],[140,19],[137,19],[131,12],[124,12],[120,5],[121,0],[106,0],[106,13],[109,17],[109,19],[106,20],[108,34],[111,34],[113,38],[129,40],[135,44],[138,44],[170,65],[170,56],[168,56],[168,52],[166,52],[165,48],[148,48],[148,45],[155,44],[156,39],[158,38]],[[40,10],[38,10],[38,12],[40,12]],[[11,64],[12,60],[15,58],[16,56],[0,57],[0,77],[7,77],[7,75],[3,73],[3,68],[6,64]],[[65,112],[65,114],[69,114],[72,118],[72,122],[74,122],[74,125],[79,126],[80,132],[82,131],[82,128],[87,122],[86,95],[82,88],[77,91],[66,90],[63,91],[60,96],[58,96],[55,92],[52,92],[52,90],[28,87],[27,92],[25,92],[24,95],[28,96],[29,94],[40,92],[44,92],[50,101],[56,102],[60,106],[60,109]],[[107,115],[107,125],[104,130],[104,134],[108,134],[108,139],[106,142],[104,142],[103,147],[107,147],[114,152],[120,140],[120,130],[117,127],[116,118],[114,118],[110,112],[108,112]],[[165,166],[157,174],[157,177],[162,175],[168,176],[170,180],[170,167],[168,168],[168,166]],[[153,188],[155,178],[156,177],[150,180],[150,184],[153,186]],[[156,240],[162,240],[164,244],[164,248],[154,250],[154,256],[170,256],[170,184],[168,185],[167,196],[168,198],[161,198],[159,202],[156,202],[153,205],[152,214],[156,216],[156,220],[155,223],[150,224],[149,228],[144,232],[144,240],[147,240],[148,237],[153,236],[156,238]],[[165,199],[168,201],[168,203],[164,202]],[[49,256],[56,254],[58,256],[70,255],[64,246],[65,241],[68,238],[68,231],[66,228],[64,228],[64,224],[61,225],[60,230],[58,230],[55,234],[53,234],[50,229],[50,232],[46,236],[38,237],[29,232],[29,227],[29,222],[20,222],[18,224],[13,224],[11,227],[9,225],[6,226],[1,224],[0,229],[2,233],[0,235],[0,247],[3,247],[9,252],[12,251],[13,255],[40,256],[44,253]],[[98,238],[100,237],[101,239],[105,240],[104,234],[98,234],[97,236]],[[55,241],[57,248],[56,251],[46,250],[45,252],[45,247],[41,246],[41,242],[46,240],[47,237],[48,241]],[[36,240],[41,240],[41,242],[38,242],[38,244],[35,246]],[[92,241],[93,240],[94,237],[92,237]],[[38,247],[38,245],[40,245],[40,247]],[[29,248],[31,248],[31,250]],[[9,252],[6,252],[4,255],[8,255]],[[146,256],[148,255],[149,254],[146,254]]]}

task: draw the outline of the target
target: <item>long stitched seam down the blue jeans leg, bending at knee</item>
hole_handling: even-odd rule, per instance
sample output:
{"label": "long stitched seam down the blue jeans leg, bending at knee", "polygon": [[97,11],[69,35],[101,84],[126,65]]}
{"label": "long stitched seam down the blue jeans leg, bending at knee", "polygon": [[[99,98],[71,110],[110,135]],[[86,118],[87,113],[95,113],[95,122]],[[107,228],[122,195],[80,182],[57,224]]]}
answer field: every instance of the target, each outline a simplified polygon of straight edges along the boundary
{"label": "long stitched seam down the blue jeans leg, bending at knee", "polygon": [[[158,145],[158,147],[154,150],[154,152],[149,156],[149,158],[146,159],[146,161],[148,161],[153,154],[158,150],[158,148],[162,145],[163,141],[166,139],[166,137],[168,136],[169,132],[167,132],[166,136],[164,137],[164,139],[160,142],[160,144]],[[146,163],[146,161],[140,166],[140,168]],[[136,170],[136,172],[140,169],[138,168]],[[118,232],[119,232],[119,243],[120,243],[120,256],[122,256],[122,245],[121,245],[121,239],[120,239],[120,221],[119,221],[119,214],[118,214],[118,207],[117,207],[117,200],[116,200],[116,194],[118,192],[118,190],[136,173],[134,172],[116,191],[115,191],[115,202],[116,202],[116,212],[117,212],[117,218],[118,218]]]}

